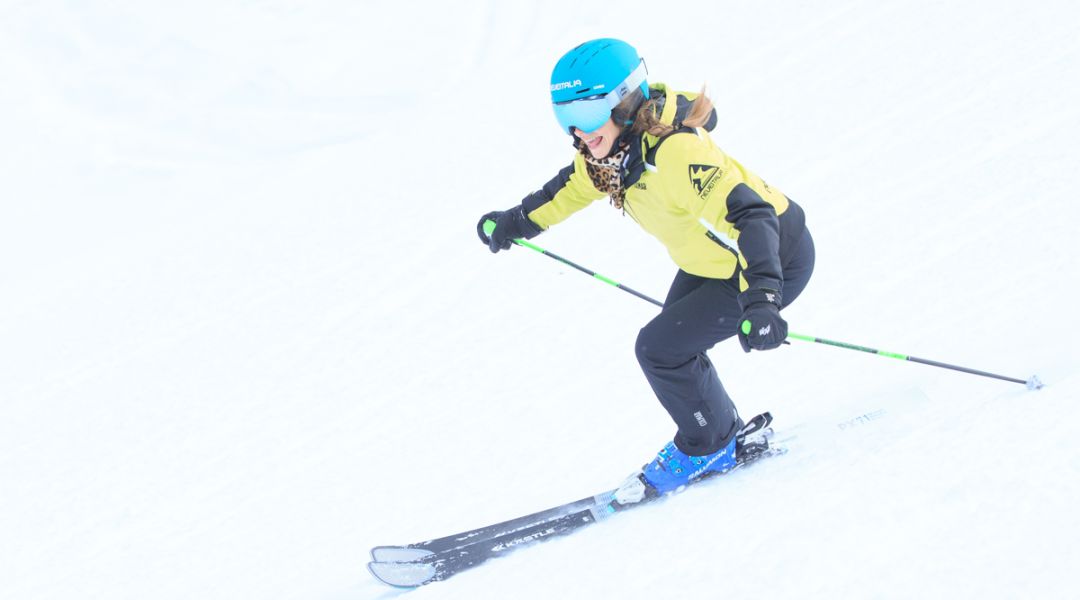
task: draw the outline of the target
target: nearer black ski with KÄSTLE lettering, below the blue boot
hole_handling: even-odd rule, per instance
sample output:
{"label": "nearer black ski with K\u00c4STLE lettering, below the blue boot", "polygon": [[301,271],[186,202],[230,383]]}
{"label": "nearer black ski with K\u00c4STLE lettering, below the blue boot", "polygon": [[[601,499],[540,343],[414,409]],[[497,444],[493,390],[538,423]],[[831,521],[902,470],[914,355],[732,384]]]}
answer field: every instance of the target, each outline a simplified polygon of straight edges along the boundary
{"label": "nearer black ski with K\u00c4STLE lettering, below the blue boot", "polygon": [[[786,450],[784,448],[770,447],[768,444],[767,435],[771,431],[767,427],[771,421],[772,417],[769,413],[755,417],[740,432],[740,437],[748,439],[753,434],[759,434],[760,440],[744,442],[741,447],[740,455],[737,458],[735,466],[731,469],[724,473],[707,474],[705,477],[696,480],[694,483],[744,468],[761,459],[785,453]],[[636,486],[634,485],[635,482],[637,483]],[[403,558],[415,556],[418,558],[408,558],[407,560],[373,560],[367,564],[367,568],[377,579],[384,584],[395,587],[418,587],[446,579],[491,558],[503,556],[511,550],[567,535],[618,513],[664,497],[664,495],[656,494],[651,488],[645,486],[640,475],[627,480],[627,483],[618,489],[549,510],[488,526],[487,528],[472,530],[471,532],[462,532],[462,534],[430,541],[440,542],[444,546],[451,545],[440,551],[431,550],[430,545],[427,548],[419,548],[419,544],[396,547],[380,546],[379,549],[381,550],[379,553],[373,550],[373,557],[378,555],[386,557],[401,556]],[[586,501],[590,503],[583,505]],[[532,519],[531,522],[529,519]],[[503,532],[492,533],[496,531]],[[484,537],[484,535],[489,536]],[[461,540],[451,542],[451,540],[458,538],[464,540],[464,542]],[[400,548],[400,550],[393,550],[393,548]],[[423,553],[422,556],[416,554],[415,550],[421,550]],[[400,554],[397,554],[399,551]]]}

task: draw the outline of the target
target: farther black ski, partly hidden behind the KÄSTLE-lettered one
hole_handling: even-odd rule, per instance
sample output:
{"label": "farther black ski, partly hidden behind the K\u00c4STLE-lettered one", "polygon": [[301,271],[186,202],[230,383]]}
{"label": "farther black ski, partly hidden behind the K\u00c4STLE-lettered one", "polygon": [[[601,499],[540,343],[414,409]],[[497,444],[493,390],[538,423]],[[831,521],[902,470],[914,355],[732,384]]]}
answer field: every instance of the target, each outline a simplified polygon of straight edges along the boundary
{"label": "farther black ski, partly hidden behind the K\u00c4STLE-lettered one", "polygon": [[[743,427],[739,432],[739,435],[742,438],[754,436],[759,432],[765,432],[766,429],[768,429],[769,425],[771,424],[772,424],[772,414],[769,412],[764,412],[761,414],[754,417],[745,425],[743,425]],[[513,533],[515,531],[526,529],[537,523],[542,523],[545,521],[550,521],[552,519],[557,519],[566,515],[572,515],[575,513],[578,513],[580,510],[583,510],[585,508],[589,508],[597,504],[604,504],[605,502],[609,501],[608,499],[610,499],[611,494],[613,494],[615,491],[616,490],[609,490],[596,495],[583,497],[575,502],[559,504],[558,506],[553,506],[545,510],[539,510],[530,515],[524,515],[522,517],[516,517],[499,523],[471,529],[459,533],[454,533],[451,535],[446,535],[434,540],[428,540],[426,542],[418,542],[405,546],[376,546],[372,548],[372,561],[410,562],[415,560],[422,560],[424,558],[437,555],[440,553],[445,553],[447,550],[460,548],[469,544],[474,544],[476,542],[482,542],[485,540],[490,540],[492,537],[505,535],[508,533]]]}

